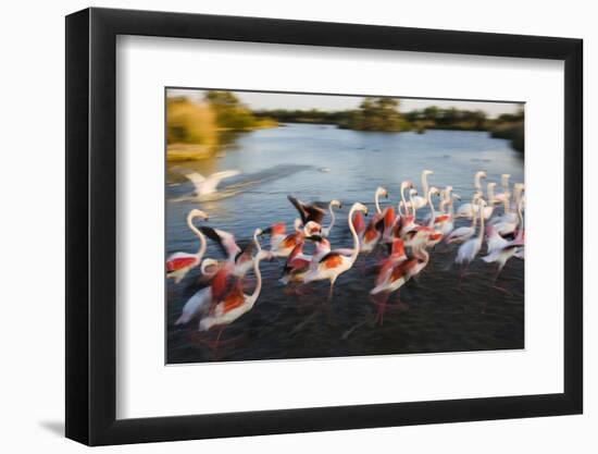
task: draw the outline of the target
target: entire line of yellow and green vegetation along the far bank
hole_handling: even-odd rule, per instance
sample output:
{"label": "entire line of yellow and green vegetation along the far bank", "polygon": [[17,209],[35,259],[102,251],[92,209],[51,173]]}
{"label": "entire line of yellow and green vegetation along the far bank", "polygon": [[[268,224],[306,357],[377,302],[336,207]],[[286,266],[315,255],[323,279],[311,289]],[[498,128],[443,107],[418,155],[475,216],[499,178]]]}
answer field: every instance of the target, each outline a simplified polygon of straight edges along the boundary
{"label": "entire line of yellow and green vegetation along the far bank", "polygon": [[351,110],[251,111],[231,91],[209,90],[199,102],[185,97],[167,98],[167,158],[209,158],[223,148],[231,133],[275,127],[279,122],[335,124],[341,128],[372,132],[488,131],[493,137],[510,139],[514,149],[523,151],[523,109],[489,119],[481,110],[431,106],[401,113],[399,107],[397,98],[366,97],[358,109]]}

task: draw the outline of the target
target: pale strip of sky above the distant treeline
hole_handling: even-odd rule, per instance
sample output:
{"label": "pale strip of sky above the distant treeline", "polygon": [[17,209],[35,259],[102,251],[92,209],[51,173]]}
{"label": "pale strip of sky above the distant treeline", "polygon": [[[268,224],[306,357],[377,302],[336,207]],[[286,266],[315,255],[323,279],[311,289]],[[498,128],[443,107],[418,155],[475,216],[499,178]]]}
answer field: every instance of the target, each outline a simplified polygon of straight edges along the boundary
{"label": "pale strip of sky above the distant treeline", "polygon": [[[259,109],[320,109],[320,110],[346,110],[357,108],[363,97],[338,95],[303,95],[262,91],[233,91],[251,110]],[[204,90],[170,88],[167,96],[186,96],[194,100],[203,98]],[[399,110],[408,112],[423,109],[428,106],[440,108],[454,107],[457,109],[483,110],[490,118],[501,113],[515,113],[521,103],[515,102],[487,102],[487,101],[461,101],[422,98],[400,98]]]}

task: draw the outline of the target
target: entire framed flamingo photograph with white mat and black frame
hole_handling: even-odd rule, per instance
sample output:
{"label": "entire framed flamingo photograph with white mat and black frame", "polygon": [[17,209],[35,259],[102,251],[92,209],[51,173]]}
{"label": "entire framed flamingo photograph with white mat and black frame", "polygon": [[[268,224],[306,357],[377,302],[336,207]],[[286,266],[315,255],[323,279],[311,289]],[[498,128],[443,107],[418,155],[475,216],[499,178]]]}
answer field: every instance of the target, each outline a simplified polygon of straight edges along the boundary
{"label": "entire framed flamingo photograph with white mat and black frame", "polygon": [[582,413],[582,40],[66,17],[66,437]]}

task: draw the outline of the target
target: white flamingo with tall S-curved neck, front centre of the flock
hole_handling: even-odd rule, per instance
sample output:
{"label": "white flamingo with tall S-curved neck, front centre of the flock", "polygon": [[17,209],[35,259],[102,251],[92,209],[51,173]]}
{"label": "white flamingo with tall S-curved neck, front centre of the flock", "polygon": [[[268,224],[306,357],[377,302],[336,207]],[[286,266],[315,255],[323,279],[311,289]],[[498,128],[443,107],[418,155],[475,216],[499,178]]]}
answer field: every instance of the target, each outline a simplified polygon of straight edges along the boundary
{"label": "white flamingo with tall S-curved neck, front centre of the flock", "polygon": [[[358,201],[354,203],[349,210],[349,216],[347,219],[349,223],[349,230],[351,231],[351,235],[353,237],[353,248],[348,250],[337,249],[329,251],[324,257],[322,257],[317,265],[314,266],[303,278],[304,283],[328,280],[331,282],[331,289],[328,291],[328,302],[331,302],[333,297],[335,281],[340,274],[342,274],[345,271],[349,270],[353,266],[359,255],[360,242],[352,222],[353,213],[356,211],[361,211],[364,214],[367,214],[367,208]],[[346,254],[348,251],[350,251],[349,255]]]}

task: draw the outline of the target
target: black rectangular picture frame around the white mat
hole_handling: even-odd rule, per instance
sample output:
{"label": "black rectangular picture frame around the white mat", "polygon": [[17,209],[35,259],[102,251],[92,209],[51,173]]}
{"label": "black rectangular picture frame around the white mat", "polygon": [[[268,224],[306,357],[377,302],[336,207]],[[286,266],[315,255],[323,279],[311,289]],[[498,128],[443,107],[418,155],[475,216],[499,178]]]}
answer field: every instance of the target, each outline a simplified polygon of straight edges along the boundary
{"label": "black rectangular picture frame around the white mat", "polygon": [[[116,419],[117,35],[564,61],[563,393]],[[581,39],[91,8],[66,17],[65,60],[67,438],[102,445],[582,413]]]}

